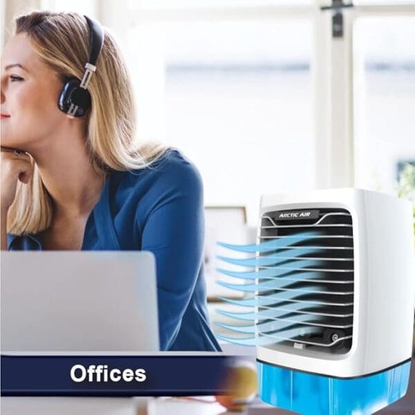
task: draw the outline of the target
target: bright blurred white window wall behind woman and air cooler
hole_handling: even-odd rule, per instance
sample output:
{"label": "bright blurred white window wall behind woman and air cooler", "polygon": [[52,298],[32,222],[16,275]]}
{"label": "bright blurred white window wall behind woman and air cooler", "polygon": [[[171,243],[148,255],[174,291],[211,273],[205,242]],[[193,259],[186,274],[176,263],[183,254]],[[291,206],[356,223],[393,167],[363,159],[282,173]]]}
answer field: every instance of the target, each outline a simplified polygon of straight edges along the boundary
{"label": "bright blurred white window wall behind woman and air cooler", "polygon": [[415,1],[340,3],[1,0],[1,46],[33,9],[91,15],[116,36],[138,135],[178,147],[203,176],[214,302],[234,295],[215,284],[216,241],[255,243],[261,194],[415,200]]}

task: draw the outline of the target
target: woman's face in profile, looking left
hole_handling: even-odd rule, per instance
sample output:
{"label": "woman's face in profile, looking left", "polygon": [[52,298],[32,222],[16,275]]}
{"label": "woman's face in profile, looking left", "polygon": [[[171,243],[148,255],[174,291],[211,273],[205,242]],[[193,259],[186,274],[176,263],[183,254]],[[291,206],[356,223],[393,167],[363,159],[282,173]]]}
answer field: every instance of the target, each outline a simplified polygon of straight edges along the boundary
{"label": "woman's face in profile, looking left", "polygon": [[26,33],[12,37],[1,58],[1,145],[29,153],[47,145],[68,120],[57,107],[61,89]]}

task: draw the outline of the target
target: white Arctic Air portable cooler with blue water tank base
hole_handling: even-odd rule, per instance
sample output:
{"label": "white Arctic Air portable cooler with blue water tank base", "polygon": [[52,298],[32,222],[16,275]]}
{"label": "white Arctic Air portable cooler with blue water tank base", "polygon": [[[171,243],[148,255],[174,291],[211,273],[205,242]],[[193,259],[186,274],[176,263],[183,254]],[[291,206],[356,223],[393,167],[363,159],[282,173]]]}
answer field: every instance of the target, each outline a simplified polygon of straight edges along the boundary
{"label": "white Arctic Air portable cooler with blue water tank base", "polygon": [[[280,275],[289,281],[282,290],[256,293],[271,299],[257,303],[256,312],[275,310],[273,320],[291,329],[266,333],[261,326],[271,320],[255,320],[259,338],[275,338],[257,346],[262,400],[302,414],[371,414],[405,395],[414,326],[413,223],[409,201],[368,190],[261,197],[257,243],[309,230],[317,235],[279,249],[292,258],[275,269],[304,259],[315,265]],[[295,255],[304,248],[311,252]],[[302,279],[304,273],[317,277]]]}

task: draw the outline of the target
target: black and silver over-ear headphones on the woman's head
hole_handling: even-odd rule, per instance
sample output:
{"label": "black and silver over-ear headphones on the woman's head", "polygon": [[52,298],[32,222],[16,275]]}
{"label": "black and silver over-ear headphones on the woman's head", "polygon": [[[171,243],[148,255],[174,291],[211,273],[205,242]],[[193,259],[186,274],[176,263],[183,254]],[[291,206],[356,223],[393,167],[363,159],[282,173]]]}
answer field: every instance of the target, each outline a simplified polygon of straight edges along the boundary
{"label": "black and silver over-ear headphones on the woman's head", "polygon": [[82,117],[91,106],[91,95],[88,91],[88,84],[92,74],[96,70],[98,56],[100,56],[104,44],[104,29],[93,19],[84,16],[89,26],[89,57],[84,68],[82,80],[77,77],[69,77],[66,80],[57,107],[69,116]]}

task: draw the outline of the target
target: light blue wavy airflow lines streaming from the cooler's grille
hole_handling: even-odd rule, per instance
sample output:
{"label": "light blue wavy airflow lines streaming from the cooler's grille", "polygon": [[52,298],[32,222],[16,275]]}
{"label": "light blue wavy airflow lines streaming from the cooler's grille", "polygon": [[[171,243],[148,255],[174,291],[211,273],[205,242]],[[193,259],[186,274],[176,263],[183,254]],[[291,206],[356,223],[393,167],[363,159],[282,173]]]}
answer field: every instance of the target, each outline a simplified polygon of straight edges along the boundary
{"label": "light blue wavy airflow lines streaming from the cooler's grille", "polygon": [[[298,335],[304,335],[306,333],[315,333],[321,329],[313,326],[307,326],[306,322],[314,321],[315,315],[306,313],[298,313],[291,316],[289,319],[278,320],[277,317],[290,313],[291,311],[298,311],[311,306],[312,304],[293,303],[284,304],[285,311],[282,310],[255,310],[258,306],[273,306],[279,302],[286,300],[297,299],[297,297],[306,294],[319,294],[322,291],[322,286],[313,284],[312,286],[301,287],[298,289],[287,289],[288,286],[292,286],[297,280],[310,280],[322,277],[323,273],[318,270],[322,265],[321,259],[308,259],[302,257],[302,255],[309,255],[315,252],[319,252],[322,248],[318,246],[314,247],[295,247],[296,243],[301,243],[308,239],[320,237],[321,232],[315,230],[307,232],[299,232],[295,235],[287,235],[276,237],[270,241],[251,245],[233,245],[230,243],[218,242],[219,246],[234,250],[237,252],[255,253],[257,255],[261,252],[272,252],[270,255],[262,257],[252,257],[243,259],[232,259],[230,257],[219,256],[218,258],[228,264],[238,266],[250,266],[250,267],[268,267],[266,269],[259,269],[254,271],[234,271],[218,268],[217,271],[228,277],[234,277],[239,280],[251,280],[255,281],[255,284],[232,284],[230,282],[218,281],[217,284],[225,288],[230,288],[234,291],[241,291],[243,293],[261,293],[264,291],[278,291],[270,295],[264,295],[252,298],[244,299],[228,299],[223,298],[225,302],[235,304],[238,306],[246,306],[251,308],[249,313],[227,313],[220,311],[219,313],[234,318],[236,321],[250,322],[241,326],[241,324],[225,324],[216,323],[223,329],[230,330],[236,333],[254,334],[248,338],[230,338],[223,335],[218,335],[218,338],[222,340],[243,344],[246,346],[256,345],[268,345],[276,342],[286,340],[287,338],[293,338]],[[311,268],[311,269],[310,269]],[[313,270],[316,268],[316,270]],[[284,278],[286,277],[286,278]],[[264,281],[265,280],[265,281]],[[258,323],[257,320],[275,319],[271,322]],[[256,324],[255,324],[256,323]],[[295,324],[302,325],[301,327],[294,327]],[[261,333],[259,333],[261,331]],[[275,332],[278,333],[275,333]],[[273,332],[273,335],[268,334]],[[255,335],[256,334],[256,335]],[[259,335],[258,335],[259,334]]]}

